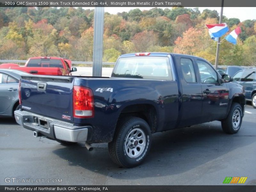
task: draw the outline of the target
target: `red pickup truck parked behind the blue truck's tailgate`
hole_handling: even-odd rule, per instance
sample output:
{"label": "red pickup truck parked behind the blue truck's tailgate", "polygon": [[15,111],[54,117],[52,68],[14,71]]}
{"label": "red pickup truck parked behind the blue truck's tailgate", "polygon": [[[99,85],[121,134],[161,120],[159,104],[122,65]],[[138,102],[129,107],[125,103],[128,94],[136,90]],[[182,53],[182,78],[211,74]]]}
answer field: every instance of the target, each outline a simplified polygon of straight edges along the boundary
{"label": "red pickup truck parked behind the blue truck's tailgate", "polygon": [[60,57],[31,57],[24,67],[15,63],[4,63],[0,68],[17,69],[36,75],[72,75],[76,71],[72,68],[71,60]]}

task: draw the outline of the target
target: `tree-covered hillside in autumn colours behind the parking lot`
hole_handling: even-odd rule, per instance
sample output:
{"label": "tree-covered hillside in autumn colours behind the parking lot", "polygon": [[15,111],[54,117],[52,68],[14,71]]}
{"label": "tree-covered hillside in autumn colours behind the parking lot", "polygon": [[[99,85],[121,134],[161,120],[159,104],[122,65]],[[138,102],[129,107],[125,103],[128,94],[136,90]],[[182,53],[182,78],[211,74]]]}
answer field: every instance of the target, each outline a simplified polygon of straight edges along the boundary
{"label": "tree-covered hillside in autumn colours behind the parking lot", "polygon": [[[0,59],[58,56],[92,61],[94,10],[49,7],[0,8]],[[215,62],[216,41],[205,24],[218,23],[217,11],[174,7],[105,13],[103,61],[130,52],[177,52]],[[230,31],[241,26],[238,43],[221,42],[221,65],[256,66],[256,22],[226,18]],[[229,32],[230,32],[229,31]],[[223,36],[221,39],[223,39]]]}

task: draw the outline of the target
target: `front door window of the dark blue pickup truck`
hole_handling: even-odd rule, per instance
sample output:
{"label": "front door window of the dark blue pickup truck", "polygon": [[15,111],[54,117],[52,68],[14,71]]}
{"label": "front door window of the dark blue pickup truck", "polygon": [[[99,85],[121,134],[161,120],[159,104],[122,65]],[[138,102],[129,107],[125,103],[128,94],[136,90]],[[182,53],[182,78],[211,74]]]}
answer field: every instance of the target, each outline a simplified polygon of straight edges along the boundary
{"label": "front door window of the dark blue pickup truck", "polygon": [[196,60],[196,62],[199,68],[201,83],[216,84],[218,82],[216,71],[214,71],[208,63],[202,60]]}

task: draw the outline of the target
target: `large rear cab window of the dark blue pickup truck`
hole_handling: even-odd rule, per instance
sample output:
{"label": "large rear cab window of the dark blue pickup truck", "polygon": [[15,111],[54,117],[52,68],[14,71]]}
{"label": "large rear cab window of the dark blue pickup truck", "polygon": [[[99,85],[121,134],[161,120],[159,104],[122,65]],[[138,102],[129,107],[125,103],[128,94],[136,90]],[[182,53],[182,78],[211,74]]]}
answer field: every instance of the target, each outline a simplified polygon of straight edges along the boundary
{"label": "large rear cab window of the dark blue pickup truck", "polygon": [[112,77],[172,80],[168,57],[124,57],[118,59]]}

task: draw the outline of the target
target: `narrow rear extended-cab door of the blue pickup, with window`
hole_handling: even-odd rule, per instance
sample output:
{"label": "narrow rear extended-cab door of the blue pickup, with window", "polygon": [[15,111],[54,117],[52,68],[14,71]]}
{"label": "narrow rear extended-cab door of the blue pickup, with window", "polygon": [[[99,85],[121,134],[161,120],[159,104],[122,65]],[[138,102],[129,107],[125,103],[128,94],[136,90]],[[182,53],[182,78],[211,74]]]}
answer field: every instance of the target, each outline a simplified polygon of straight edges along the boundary
{"label": "narrow rear extended-cab door of the blue pickup, with window", "polygon": [[176,56],[176,63],[182,87],[179,127],[198,124],[202,111],[202,88],[195,73],[195,61],[193,57]]}

